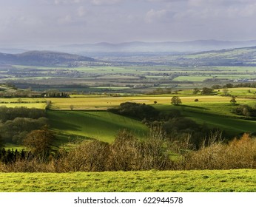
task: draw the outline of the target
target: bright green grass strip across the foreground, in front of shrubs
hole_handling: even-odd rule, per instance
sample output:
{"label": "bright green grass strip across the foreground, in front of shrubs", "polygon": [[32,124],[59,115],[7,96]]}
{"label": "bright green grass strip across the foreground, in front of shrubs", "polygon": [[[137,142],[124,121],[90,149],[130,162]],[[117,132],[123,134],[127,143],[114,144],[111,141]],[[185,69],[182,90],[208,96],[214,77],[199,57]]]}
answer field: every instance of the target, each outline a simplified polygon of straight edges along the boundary
{"label": "bright green grass strip across the foreground, in front of shrubs", "polygon": [[256,192],[256,171],[0,173],[1,192]]}

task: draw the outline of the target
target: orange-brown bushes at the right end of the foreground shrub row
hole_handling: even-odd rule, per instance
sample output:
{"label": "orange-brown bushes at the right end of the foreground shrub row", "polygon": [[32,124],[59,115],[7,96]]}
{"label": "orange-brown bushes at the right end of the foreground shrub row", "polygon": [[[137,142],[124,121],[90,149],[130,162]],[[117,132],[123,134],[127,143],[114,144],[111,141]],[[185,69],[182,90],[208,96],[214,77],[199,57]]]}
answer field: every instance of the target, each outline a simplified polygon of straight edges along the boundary
{"label": "orange-brown bushes at the right end of the foreground shrub row", "polygon": [[256,140],[244,134],[229,144],[221,141],[191,152],[186,157],[186,169],[255,169]]}

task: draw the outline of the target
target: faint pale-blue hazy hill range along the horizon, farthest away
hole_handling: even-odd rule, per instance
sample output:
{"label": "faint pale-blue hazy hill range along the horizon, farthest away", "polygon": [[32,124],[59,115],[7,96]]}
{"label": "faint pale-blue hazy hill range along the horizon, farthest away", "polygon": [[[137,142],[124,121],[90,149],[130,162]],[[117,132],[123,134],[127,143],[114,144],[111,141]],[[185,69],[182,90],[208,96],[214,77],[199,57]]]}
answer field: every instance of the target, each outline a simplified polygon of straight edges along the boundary
{"label": "faint pale-blue hazy hill range along the horizon, farthest away", "polygon": [[208,50],[223,50],[238,47],[253,47],[256,41],[166,41],[166,42],[124,42],[110,44],[101,42],[97,44],[70,44],[57,47],[56,50],[87,54],[90,52],[202,52]]}

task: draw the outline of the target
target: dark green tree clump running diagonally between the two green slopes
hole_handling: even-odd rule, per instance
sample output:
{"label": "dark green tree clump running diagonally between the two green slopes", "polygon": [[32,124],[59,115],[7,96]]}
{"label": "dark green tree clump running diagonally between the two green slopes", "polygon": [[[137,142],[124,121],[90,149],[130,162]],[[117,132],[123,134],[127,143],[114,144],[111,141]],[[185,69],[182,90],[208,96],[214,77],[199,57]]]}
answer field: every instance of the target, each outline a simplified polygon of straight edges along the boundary
{"label": "dark green tree clump running diagonally between the two green slopes", "polygon": [[[168,112],[158,112],[157,109],[150,105],[126,102],[120,104],[118,108],[109,109],[109,111],[138,118],[146,126],[149,126],[149,128],[161,126],[168,140],[182,142],[183,138],[189,134],[190,142],[195,149],[201,147],[203,140],[207,139],[212,130],[218,130],[209,129],[205,124],[200,125],[189,118],[184,118],[178,109],[170,109]],[[223,135],[225,135],[227,140],[229,139],[229,136],[224,132]]]}

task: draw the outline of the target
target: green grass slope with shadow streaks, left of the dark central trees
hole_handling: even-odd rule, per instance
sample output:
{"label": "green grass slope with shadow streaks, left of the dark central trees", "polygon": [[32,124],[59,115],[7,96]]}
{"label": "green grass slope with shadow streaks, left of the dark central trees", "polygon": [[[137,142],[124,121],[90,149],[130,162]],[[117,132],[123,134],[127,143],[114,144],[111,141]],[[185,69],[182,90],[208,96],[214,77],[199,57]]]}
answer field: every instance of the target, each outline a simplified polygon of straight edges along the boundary
{"label": "green grass slope with shadow streaks, left of the dark central trees", "polygon": [[[112,142],[121,129],[134,132],[139,137],[148,132],[147,127],[139,121],[104,111],[47,111],[47,117],[51,129],[66,139],[86,137]],[[63,141],[67,140],[59,140]]]}

